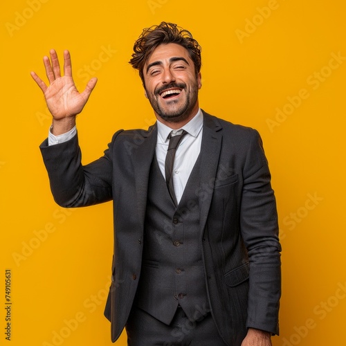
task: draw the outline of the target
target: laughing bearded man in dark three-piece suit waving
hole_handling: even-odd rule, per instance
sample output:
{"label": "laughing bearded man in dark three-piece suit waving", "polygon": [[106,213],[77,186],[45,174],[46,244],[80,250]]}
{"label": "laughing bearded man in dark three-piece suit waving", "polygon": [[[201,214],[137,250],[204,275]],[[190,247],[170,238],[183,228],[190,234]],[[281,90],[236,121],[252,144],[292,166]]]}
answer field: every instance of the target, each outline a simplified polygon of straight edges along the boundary
{"label": "laughing bearded man in dark three-piece suit waving", "polygon": [[[55,201],[113,199],[114,255],[105,316],[129,345],[269,346],[278,334],[280,244],[275,197],[257,131],[199,108],[201,48],[176,24],[143,30],[130,61],[157,118],[117,131],[104,156],[80,163],[71,60],[35,74],[53,125],[41,145]],[[183,131],[182,131],[183,130]]]}

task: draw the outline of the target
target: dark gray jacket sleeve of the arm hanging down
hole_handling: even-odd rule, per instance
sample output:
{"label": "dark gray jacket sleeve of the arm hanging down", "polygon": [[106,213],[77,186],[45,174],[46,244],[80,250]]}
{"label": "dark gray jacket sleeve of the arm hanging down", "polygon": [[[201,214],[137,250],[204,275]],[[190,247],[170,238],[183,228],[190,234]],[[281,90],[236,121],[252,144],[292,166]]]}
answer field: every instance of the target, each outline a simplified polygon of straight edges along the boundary
{"label": "dark gray jacket sleeve of the arm hanging down", "polygon": [[257,131],[253,131],[243,174],[240,225],[250,262],[247,327],[278,334],[281,246],[271,174]]}

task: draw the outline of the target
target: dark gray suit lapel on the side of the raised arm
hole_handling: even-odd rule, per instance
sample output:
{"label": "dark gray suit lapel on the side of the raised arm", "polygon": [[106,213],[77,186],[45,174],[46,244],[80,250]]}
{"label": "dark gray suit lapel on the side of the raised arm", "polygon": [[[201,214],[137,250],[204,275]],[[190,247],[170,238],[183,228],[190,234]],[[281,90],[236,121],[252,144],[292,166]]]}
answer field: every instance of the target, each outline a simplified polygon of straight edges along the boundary
{"label": "dark gray suit lapel on the side of the raised arm", "polygon": [[143,138],[139,138],[140,145],[132,152],[132,165],[134,167],[134,177],[137,193],[137,207],[140,224],[144,224],[145,209],[147,208],[147,190],[149,181],[150,166],[154,158],[157,141],[156,124],[149,127],[148,131],[143,131]]}

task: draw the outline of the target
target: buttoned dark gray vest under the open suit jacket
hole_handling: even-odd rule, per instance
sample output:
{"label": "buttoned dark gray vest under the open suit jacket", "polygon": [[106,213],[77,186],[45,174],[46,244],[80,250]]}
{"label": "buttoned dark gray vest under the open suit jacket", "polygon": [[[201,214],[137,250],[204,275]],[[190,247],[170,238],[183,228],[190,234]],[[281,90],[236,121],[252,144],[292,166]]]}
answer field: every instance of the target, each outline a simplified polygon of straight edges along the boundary
{"label": "buttoned dark gray vest under the open suit jacket", "polygon": [[199,227],[199,162],[176,207],[154,157],[149,174],[143,264],[135,304],[169,325],[180,305],[190,320],[209,311]]}

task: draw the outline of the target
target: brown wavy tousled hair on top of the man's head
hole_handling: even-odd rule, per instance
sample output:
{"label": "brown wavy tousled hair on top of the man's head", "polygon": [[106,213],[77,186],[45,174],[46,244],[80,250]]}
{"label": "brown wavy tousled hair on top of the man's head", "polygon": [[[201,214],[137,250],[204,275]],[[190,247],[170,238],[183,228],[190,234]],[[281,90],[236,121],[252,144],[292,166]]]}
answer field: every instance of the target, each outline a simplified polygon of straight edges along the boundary
{"label": "brown wavy tousled hair on top of the man's head", "polygon": [[180,44],[188,50],[194,62],[196,75],[201,71],[201,46],[192,37],[190,31],[180,28],[176,24],[161,22],[159,25],[143,29],[143,33],[134,44],[134,53],[129,64],[139,71],[140,79],[144,84],[143,68],[154,50],[161,44]]}

